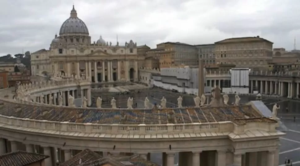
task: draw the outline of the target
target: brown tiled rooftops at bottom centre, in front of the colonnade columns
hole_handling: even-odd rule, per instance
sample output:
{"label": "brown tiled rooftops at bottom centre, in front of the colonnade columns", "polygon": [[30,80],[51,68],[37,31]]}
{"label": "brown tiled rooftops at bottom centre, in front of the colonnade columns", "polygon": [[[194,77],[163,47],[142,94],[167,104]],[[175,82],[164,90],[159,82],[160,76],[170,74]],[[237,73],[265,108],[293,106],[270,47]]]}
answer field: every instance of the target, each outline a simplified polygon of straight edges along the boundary
{"label": "brown tiled rooftops at bottom centre, in front of the colonnade columns", "polygon": [[79,152],[70,160],[60,164],[60,166],[90,166],[90,165],[105,165],[105,166],[159,166],[156,163],[147,161],[139,155],[125,156],[125,155],[109,155],[102,158],[97,153],[86,149]]}

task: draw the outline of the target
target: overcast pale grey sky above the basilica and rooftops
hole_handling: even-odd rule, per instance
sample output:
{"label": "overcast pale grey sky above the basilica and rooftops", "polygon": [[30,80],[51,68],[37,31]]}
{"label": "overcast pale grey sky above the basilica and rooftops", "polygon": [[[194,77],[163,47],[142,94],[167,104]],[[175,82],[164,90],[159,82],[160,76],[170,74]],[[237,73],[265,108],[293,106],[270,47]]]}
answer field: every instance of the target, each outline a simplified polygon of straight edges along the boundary
{"label": "overcast pale grey sky above the basilica and rooftops", "polygon": [[0,1],[0,56],[49,49],[72,5],[92,42],[102,35],[120,44],[180,41],[208,44],[229,37],[261,36],[273,47],[300,49],[296,0],[13,0]]}

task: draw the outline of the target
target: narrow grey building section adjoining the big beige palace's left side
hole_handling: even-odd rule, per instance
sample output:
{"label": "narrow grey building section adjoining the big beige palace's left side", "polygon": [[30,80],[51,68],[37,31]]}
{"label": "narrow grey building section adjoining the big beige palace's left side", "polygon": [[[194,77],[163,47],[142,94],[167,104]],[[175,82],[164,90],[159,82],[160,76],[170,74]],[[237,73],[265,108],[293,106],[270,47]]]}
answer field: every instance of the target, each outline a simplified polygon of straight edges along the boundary
{"label": "narrow grey building section adjoining the big beige palace's left side", "polygon": [[204,65],[216,63],[215,44],[195,45],[198,57],[202,59]]}

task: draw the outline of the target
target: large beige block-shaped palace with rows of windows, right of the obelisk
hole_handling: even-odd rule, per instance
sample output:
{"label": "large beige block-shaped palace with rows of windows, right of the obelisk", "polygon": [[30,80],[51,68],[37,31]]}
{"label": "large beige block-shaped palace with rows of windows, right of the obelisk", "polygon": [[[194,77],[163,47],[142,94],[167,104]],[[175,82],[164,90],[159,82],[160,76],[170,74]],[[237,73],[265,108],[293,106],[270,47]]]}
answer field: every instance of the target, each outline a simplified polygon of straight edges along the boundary
{"label": "large beige block-shaped palace with rows of windows, right of the obelisk", "polygon": [[259,69],[272,62],[273,43],[256,37],[229,38],[215,42],[216,62]]}

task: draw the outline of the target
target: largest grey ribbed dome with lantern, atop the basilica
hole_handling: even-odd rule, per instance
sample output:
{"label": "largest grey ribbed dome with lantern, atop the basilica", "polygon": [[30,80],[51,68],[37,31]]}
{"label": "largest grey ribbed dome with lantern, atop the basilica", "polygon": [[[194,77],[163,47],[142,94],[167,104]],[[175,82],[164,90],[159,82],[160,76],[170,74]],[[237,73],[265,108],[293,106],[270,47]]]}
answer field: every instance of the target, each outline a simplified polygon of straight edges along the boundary
{"label": "largest grey ribbed dome with lantern, atop the basilica", "polygon": [[60,27],[59,36],[68,34],[84,34],[88,36],[88,27],[85,23],[77,17],[77,12],[74,8],[71,10],[70,18],[66,19]]}

